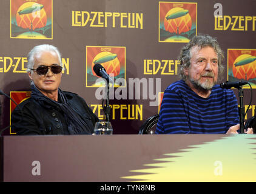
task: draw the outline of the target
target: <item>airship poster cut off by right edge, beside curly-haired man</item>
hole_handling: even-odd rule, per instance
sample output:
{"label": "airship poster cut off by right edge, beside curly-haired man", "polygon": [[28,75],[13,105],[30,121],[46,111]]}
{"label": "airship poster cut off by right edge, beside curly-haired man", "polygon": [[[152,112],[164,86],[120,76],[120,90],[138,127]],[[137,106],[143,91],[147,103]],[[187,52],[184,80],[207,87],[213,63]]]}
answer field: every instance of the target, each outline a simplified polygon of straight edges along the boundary
{"label": "airship poster cut off by right edge, beside curly-haired man", "polygon": [[[227,50],[227,79],[248,81],[256,89],[256,49]],[[244,85],[249,89],[249,85]]]}

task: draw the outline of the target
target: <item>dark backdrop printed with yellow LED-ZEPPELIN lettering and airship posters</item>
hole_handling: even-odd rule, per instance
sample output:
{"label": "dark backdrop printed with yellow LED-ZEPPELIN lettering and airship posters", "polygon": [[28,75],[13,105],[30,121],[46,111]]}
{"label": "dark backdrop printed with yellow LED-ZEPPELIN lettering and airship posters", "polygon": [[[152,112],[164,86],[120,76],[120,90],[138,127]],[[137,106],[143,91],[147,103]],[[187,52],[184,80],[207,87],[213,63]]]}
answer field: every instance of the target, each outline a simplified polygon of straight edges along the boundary
{"label": "dark backdrop printed with yellow LED-ZEPPELIN lettering and airship posters", "polygon": [[[179,79],[181,47],[195,35],[208,34],[225,53],[219,83],[249,81],[255,96],[255,7],[253,0],[4,0],[0,89],[18,103],[29,98],[27,54],[35,45],[52,44],[65,67],[60,88],[82,96],[104,119],[104,82],[92,70],[102,64],[115,81],[110,90],[113,133],[138,133],[159,112],[166,87]],[[244,85],[246,109],[250,96]],[[4,96],[0,100],[2,129],[10,124],[13,104]],[[253,98],[246,119],[254,116],[255,102]],[[8,134],[15,133],[8,129]]]}

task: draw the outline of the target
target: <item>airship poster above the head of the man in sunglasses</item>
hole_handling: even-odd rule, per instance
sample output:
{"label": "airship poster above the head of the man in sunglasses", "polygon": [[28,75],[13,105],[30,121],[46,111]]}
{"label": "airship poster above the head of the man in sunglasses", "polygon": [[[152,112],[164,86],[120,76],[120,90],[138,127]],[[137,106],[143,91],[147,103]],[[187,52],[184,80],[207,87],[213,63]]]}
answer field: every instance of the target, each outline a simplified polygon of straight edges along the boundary
{"label": "airship poster above the head of the man in sunglasses", "polygon": [[52,39],[52,0],[11,0],[10,38]]}

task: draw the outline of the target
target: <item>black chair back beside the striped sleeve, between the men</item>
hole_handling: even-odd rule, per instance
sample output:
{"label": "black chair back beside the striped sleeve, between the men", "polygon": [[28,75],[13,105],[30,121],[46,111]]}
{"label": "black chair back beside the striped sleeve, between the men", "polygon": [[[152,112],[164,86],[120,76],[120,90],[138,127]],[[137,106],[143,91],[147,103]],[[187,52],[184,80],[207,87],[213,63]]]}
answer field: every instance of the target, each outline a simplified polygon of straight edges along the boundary
{"label": "black chair back beside the striped sleeve, between the men", "polygon": [[159,115],[154,115],[154,116],[150,116],[150,118],[147,119],[147,121],[145,121],[143,123],[143,125],[141,125],[140,130],[139,130],[139,134],[143,135],[143,134],[155,134],[155,130],[156,130],[156,125],[159,119]]}

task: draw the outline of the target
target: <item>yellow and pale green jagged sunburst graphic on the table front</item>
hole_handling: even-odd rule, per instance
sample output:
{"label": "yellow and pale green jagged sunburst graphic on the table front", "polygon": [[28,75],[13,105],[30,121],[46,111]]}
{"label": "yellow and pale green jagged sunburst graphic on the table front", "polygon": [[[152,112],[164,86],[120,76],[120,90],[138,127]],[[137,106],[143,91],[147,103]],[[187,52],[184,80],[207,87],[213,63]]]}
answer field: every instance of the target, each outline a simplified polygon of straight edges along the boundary
{"label": "yellow and pale green jagged sunburst graphic on the table front", "polygon": [[157,164],[144,164],[147,169],[130,170],[140,175],[121,178],[149,182],[256,181],[255,154],[255,135],[232,135],[167,153],[167,158],[155,159]]}

